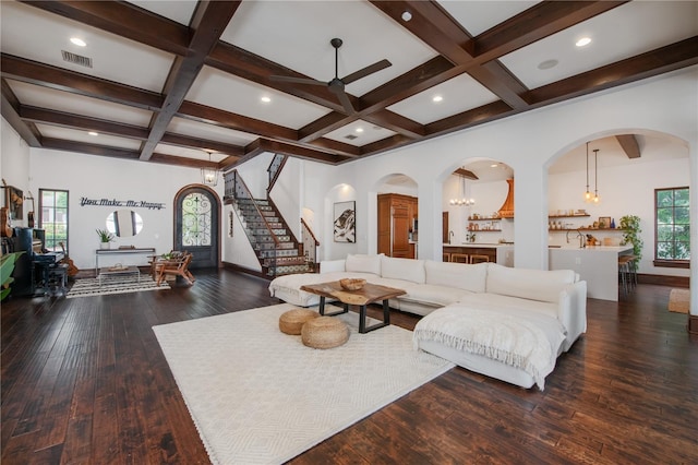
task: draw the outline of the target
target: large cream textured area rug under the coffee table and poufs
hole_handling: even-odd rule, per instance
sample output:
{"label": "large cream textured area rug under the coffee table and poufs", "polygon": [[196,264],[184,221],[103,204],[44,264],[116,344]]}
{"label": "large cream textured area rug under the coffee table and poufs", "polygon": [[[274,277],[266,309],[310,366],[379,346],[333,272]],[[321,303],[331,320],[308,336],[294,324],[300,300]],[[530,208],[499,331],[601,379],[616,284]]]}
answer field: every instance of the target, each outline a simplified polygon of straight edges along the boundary
{"label": "large cream textured area rug under the coffee table and poufs", "polygon": [[286,462],[454,365],[412,347],[412,332],[386,326],[347,344],[303,346],[284,334],[281,303],[153,326],[214,464]]}

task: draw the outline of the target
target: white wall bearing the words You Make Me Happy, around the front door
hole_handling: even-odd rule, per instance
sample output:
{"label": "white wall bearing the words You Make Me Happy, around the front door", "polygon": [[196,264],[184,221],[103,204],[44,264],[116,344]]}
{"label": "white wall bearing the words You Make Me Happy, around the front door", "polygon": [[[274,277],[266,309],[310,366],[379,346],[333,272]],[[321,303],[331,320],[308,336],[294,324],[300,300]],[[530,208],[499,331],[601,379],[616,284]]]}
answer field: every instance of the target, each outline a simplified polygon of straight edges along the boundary
{"label": "white wall bearing the words You Make Me Happy, around the front door", "polygon": [[[164,203],[164,210],[134,207],[133,210],[143,217],[143,230],[132,238],[118,238],[112,247],[155,247],[157,253],[165,253],[173,247],[174,195],[183,187],[201,182],[198,169],[171,165],[44,148],[32,148],[29,159],[32,175],[28,186],[35,195],[39,188],[69,191],[68,249],[79,269],[95,266],[95,250],[99,247],[95,229],[104,229],[107,215],[116,210],[111,206],[81,206],[82,198]],[[219,198],[222,195],[222,182],[219,181],[216,187]],[[226,230],[224,219],[225,216],[220,223],[221,228]],[[145,257],[139,259],[141,263],[133,264],[147,263]],[[100,260],[99,264],[103,263],[110,264]]]}

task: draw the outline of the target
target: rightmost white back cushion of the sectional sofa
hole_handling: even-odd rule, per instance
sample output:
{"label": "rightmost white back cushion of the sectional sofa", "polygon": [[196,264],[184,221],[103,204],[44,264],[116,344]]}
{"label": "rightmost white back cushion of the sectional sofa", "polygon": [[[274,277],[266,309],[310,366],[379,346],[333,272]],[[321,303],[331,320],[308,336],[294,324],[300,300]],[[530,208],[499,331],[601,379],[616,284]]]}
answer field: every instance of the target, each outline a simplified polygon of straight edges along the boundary
{"label": "rightmost white back cushion of the sectional sofa", "polygon": [[557,302],[565,285],[575,282],[571,270],[509,269],[489,263],[485,291],[543,302]]}

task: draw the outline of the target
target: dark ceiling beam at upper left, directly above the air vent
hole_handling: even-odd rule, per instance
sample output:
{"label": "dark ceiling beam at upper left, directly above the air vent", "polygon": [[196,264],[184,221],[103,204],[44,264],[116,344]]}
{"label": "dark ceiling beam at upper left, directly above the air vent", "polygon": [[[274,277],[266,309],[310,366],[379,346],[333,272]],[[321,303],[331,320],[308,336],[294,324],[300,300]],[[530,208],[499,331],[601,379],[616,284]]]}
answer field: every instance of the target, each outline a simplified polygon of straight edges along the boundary
{"label": "dark ceiling beam at upper left, directly above the air vent", "polygon": [[127,2],[20,1],[159,50],[179,56],[188,53],[189,27]]}

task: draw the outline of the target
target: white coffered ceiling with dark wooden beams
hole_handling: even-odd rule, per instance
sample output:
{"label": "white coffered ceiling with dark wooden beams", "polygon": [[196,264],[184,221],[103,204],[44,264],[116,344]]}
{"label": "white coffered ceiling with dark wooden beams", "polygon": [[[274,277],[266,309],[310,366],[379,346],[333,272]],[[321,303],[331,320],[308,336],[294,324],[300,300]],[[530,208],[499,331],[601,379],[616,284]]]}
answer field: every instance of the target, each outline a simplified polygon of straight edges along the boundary
{"label": "white coffered ceiling with dark wooden beams", "polygon": [[[224,170],[263,152],[346,163],[698,62],[695,1],[0,8],[2,115],[29,145]],[[347,83],[352,109],[326,85],[270,79],[384,59]]]}

